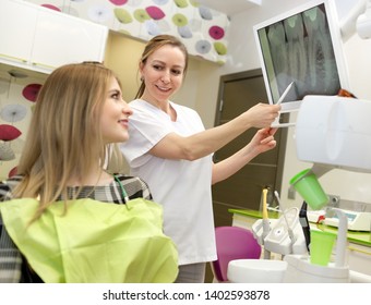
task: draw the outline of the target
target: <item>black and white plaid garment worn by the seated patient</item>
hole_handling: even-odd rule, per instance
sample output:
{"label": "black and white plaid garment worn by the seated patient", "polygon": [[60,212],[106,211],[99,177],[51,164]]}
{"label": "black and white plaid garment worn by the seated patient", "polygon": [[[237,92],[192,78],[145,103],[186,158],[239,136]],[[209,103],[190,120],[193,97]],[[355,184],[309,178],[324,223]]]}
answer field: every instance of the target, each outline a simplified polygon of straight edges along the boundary
{"label": "black and white plaid garment worn by the seated patient", "polygon": [[[77,199],[91,198],[108,204],[122,205],[125,199],[122,194],[122,184],[129,199],[145,198],[152,199],[147,184],[140,178],[115,174],[116,180],[103,186],[84,186]],[[0,182],[0,205],[1,202],[13,198],[12,190],[22,180],[21,175],[12,176]],[[118,182],[120,181],[120,183]],[[69,194],[74,194],[77,187],[69,187]],[[71,196],[72,198],[72,196]],[[7,229],[3,227],[0,215],[0,283],[17,282],[41,282],[37,274],[29,270],[22,254],[10,239]]]}

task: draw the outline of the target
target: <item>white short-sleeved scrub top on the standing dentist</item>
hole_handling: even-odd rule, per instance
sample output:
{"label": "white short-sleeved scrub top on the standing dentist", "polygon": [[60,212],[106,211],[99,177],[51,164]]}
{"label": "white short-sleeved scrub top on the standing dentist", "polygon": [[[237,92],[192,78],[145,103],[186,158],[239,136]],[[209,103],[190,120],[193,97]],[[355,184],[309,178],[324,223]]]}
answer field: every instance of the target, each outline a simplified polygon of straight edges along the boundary
{"label": "white short-sleeved scrub top on the standing dentist", "polygon": [[187,161],[154,157],[148,150],[169,133],[182,136],[204,131],[200,115],[171,102],[177,121],[151,103],[130,102],[130,138],[121,144],[131,174],[149,186],[154,202],[164,206],[164,232],[176,243],[179,265],[216,260],[212,202],[212,155]]}

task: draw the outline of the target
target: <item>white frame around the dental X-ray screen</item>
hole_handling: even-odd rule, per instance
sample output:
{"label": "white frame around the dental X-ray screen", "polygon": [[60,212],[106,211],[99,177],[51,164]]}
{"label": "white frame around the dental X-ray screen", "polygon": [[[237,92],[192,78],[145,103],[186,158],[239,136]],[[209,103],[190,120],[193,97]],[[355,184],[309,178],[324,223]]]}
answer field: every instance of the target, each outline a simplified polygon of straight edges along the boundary
{"label": "white frame around the dental X-ray screen", "polygon": [[[256,42],[256,47],[258,47],[258,53],[259,53],[259,60],[260,60],[260,63],[261,63],[263,80],[264,80],[264,83],[265,83],[265,88],[266,88],[267,98],[268,98],[270,103],[276,103],[277,100],[279,99],[279,96],[280,96],[282,93],[278,91],[278,88],[276,88],[276,91],[273,91],[273,89],[270,85],[270,78],[268,78],[268,75],[267,75],[267,68],[266,68],[264,56],[263,56],[263,48],[262,48],[261,40],[260,40],[260,37],[259,37],[259,32],[261,29],[266,28],[270,25],[282,22],[282,21],[284,21],[284,20],[286,20],[290,16],[294,16],[296,14],[300,14],[300,13],[311,9],[311,8],[314,8],[314,7],[318,7],[318,5],[321,5],[321,4],[323,4],[324,8],[325,8],[325,13],[326,13],[326,19],[327,19],[327,23],[328,23],[331,41],[332,41],[333,51],[334,51],[334,56],[335,56],[335,61],[336,61],[340,87],[343,89],[350,90],[349,89],[349,81],[348,81],[348,69],[347,69],[347,63],[345,61],[343,39],[342,39],[336,7],[335,7],[334,2],[331,1],[331,0],[312,0],[312,1],[309,1],[304,4],[299,5],[299,7],[296,7],[296,8],[291,9],[291,10],[285,12],[285,13],[276,15],[274,17],[271,17],[271,19],[268,19],[264,22],[261,22],[261,23],[253,26],[254,38],[255,38],[255,42]],[[300,101],[301,100],[285,100],[284,99],[283,102],[284,103],[294,102],[296,105],[300,105]]]}

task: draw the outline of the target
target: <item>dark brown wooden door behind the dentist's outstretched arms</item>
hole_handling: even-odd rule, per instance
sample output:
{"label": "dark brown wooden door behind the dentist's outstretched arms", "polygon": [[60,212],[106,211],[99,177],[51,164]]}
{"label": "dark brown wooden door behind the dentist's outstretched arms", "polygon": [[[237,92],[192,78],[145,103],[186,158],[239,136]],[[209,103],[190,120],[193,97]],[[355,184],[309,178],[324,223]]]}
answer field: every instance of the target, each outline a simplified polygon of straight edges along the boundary
{"label": "dark brown wooden door behind the dentist's outstretched arms", "polygon": [[[236,118],[258,102],[267,102],[261,69],[220,76],[215,125]],[[283,118],[287,121],[287,118]],[[256,129],[251,129],[214,155],[218,162],[247,145]],[[230,208],[259,210],[265,186],[280,193],[287,129],[277,131],[277,147],[254,158],[231,178],[213,186],[215,225],[230,225]],[[268,193],[268,203],[273,192]]]}

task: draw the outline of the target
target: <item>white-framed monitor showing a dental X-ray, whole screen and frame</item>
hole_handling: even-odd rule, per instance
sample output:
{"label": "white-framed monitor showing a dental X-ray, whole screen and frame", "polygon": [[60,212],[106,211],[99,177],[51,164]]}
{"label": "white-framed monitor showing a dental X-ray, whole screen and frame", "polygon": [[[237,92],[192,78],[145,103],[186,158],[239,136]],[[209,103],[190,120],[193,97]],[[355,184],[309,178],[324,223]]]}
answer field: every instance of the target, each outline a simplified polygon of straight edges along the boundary
{"label": "white-framed monitor showing a dental X-ray, whole screen and frame", "polygon": [[[270,103],[298,109],[306,95],[337,95],[348,73],[335,4],[314,0],[253,27]],[[289,111],[284,111],[289,110]]]}

